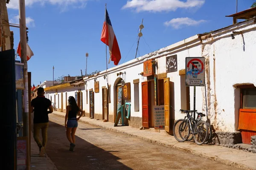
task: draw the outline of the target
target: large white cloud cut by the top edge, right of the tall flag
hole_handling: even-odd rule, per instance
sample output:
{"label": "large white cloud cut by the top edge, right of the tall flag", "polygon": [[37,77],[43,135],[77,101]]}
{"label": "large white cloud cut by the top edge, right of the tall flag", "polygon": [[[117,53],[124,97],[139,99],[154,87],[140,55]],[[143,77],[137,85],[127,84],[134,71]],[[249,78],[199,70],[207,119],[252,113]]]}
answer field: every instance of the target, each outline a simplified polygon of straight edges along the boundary
{"label": "large white cloud cut by the top edge, right of the tall flag", "polygon": [[135,8],[140,11],[175,11],[177,8],[201,7],[205,0],[128,0],[122,8]]}

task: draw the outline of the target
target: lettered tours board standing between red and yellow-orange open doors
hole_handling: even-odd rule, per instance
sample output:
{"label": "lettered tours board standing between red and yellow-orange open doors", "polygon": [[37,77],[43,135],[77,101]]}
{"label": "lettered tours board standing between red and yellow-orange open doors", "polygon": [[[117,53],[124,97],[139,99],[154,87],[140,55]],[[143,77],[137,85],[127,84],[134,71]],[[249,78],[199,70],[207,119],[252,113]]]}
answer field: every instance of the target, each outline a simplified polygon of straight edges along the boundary
{"label": "lettered tours board standing between red and yellow-orange open doors", "polygon": [[154,129],[164,129],[164,105],[156,105],[154,111]]}

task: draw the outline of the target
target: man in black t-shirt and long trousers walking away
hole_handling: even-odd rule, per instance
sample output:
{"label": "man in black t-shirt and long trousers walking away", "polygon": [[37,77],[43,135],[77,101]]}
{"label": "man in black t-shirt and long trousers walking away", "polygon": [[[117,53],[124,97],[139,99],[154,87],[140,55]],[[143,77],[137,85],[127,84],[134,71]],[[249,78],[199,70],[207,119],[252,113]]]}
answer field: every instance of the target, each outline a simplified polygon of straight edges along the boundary
{"label": "man in black t-shirt and long trousers walking away", "polygon": [[[53,108],[51,101],[44,96],[44,88],[38,88],[37,94],[38,96],[31,101],[31,110],[34,108],[34,139],[39,147],[39,155],[44,156],[49,126],[48,114],[53,112]],[[42,132],[43,143],[41,143],[39,138],[40,130]]]}

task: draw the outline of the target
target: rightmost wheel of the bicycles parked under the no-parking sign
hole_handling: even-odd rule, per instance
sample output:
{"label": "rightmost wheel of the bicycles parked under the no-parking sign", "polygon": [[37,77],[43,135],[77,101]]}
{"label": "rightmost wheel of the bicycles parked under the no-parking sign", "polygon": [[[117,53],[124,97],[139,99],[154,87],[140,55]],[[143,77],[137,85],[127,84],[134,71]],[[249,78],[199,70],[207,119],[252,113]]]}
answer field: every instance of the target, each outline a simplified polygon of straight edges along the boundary
{"label": "rightmost wheel of the bicycles parked under the no-parking sign", "polygon": [[201,120],[196,124],[193,133],[196,144],[201,145],[206,142],[206,140],[208,139],[208,128],[209,127],[207,125],[207,122],[205,121]]}

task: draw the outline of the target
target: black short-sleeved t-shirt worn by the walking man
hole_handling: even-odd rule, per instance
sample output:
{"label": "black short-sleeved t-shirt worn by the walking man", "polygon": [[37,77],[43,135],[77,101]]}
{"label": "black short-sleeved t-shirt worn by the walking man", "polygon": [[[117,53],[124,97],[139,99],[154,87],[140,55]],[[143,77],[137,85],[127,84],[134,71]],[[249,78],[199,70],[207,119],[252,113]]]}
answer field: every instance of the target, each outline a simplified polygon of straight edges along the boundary
{"label": "black short-sleeved t-shirt worn by the walking man", "polygon": [[49,122],[48,108],[52,102],[44,96],[37,96],[32,99],[31,106],[34,107],[34,123],[47,123]]}

